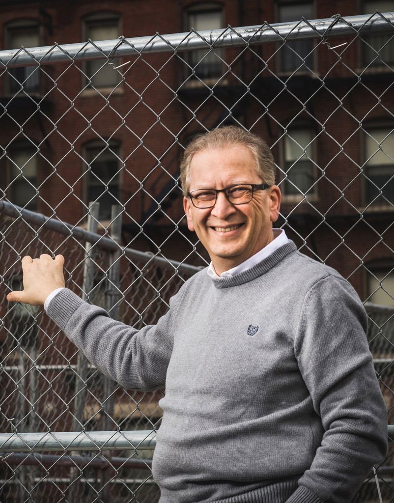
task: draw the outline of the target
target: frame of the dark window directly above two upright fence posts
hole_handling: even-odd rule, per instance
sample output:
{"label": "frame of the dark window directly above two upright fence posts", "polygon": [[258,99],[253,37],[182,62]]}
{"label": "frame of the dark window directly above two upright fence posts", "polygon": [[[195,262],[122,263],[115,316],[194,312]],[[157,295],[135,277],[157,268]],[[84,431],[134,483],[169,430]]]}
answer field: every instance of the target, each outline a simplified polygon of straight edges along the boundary
{"label": "frame of the dark window directly above two upright fence posts", "polygon": [[[118,181],[117,193],[118,193],[118,195],[117,195],[117,199],[119,199],[119,201],[120,201],[121,200],[121,192],[122,192],[122,181],[123,181],[123,170],[122,170],[122,164],[121,164],[122,143],[121,143],[121,141],[119,141],[117,139],[107,140],[106,143],[108,143],[109,149],[113,149],[113,148],[118,149],[117,153],[115,153],[115,156],[117,155],[117,157],[119,157],[117,159],[117,162],[118,162],[118,172],[117,172],[117,181]],[[96,148],[96,149],[101,148],[102,151],[104,151],[106,149],[105,144],[103,144],[103,141],[96,140],[96,139],[87,141],[86,143],[84,143],[84,145],[82,147],[83,201],[85,202],[85,204],[87,206],[90,203],[89,193],[90,193],[91,184],[89,183],[89,181],[90,181],[91,175],[89,174],[88,176],[86,176],[85,173],[90,171],[89,165],[93,162],[93,161],[88,160],[89,149],[93,149],[93,148]],[[116,204],[116,203],[114,203],[114,204]],[[83,213],[86,216],[85,210],[83,210]],[[106,222],[109,223],[111,221],[111,218],[102,218],[102,216],[100,216],[100,213],[99,213],[99,221],[102,223],[106,223]]]}

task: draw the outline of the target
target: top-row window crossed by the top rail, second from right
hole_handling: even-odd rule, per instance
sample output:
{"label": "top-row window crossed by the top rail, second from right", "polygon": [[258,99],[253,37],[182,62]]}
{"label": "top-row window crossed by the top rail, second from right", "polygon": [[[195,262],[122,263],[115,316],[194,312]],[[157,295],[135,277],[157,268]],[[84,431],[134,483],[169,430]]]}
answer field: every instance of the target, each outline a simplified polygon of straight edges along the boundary
{"label": "top-row window crossed by the top rail, second from right", "polygon": [[[279,23],[300,21],[302,17],[312,19],[312,3],[291,3],[280,4],[278,6]],[[279,51],[280,70],[283,72],[293,72],[297,68],[300,70],[313,68],[313,41],[312,40],[286,40]]]}

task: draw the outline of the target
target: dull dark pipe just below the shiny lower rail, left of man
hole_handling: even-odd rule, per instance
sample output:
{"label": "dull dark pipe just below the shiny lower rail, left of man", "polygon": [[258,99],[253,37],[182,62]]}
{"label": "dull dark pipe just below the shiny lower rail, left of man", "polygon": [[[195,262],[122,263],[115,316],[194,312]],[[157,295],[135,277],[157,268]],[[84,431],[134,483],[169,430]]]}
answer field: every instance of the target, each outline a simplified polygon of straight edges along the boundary
{"label": "dull dark pipe just below the shiny lower rail, left of man", "polygon": [[[18,454],[0,453],[0,462],[7,462],[8,465],[23,465],[23,466],[41,466],[51,468],[55,463],[56,466],[80,468],[135,468],[139,470],[148,470],[152,466],[151,459],[135,459],[135,458],[119,458],[111,456],[107,459],[104,456],[68,456],[68,455],[51,455],[51,454],[32,454],[30,452],[21,452]],[[4,459],[2,459],[4,458]],[[7,458],[7,459],[6,459]]]}

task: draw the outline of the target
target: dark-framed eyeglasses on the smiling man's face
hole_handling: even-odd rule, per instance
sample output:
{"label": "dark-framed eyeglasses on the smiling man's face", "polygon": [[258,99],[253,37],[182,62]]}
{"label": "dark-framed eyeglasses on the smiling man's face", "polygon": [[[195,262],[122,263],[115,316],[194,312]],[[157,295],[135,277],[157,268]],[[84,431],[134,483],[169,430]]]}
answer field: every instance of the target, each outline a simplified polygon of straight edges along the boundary
{"label": "dark-framed eyeglasses on the smiling man's face", "polygon": [[240,184],[230,185],[225,189],[196,189],[188,193],[193,206],[200,209],[213,208],[216,203],[217,195],[223,192],[227,201],[231,204],[246,204],[253,199],[255,190],[266,190],[271,185],[268,184]]}

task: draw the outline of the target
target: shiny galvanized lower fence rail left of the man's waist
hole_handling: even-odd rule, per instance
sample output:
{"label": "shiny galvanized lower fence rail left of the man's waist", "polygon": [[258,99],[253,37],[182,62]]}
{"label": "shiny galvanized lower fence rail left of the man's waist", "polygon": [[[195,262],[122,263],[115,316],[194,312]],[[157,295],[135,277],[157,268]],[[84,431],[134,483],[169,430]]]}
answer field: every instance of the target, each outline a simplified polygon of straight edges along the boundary
{"label": "shiny galvanized lower fence rail left of the man's waist", "polygon": [[154,449],[156,434],[149,430],[124,432],[2,433],[0,451],[121,451]]}

